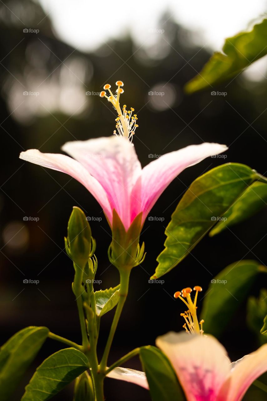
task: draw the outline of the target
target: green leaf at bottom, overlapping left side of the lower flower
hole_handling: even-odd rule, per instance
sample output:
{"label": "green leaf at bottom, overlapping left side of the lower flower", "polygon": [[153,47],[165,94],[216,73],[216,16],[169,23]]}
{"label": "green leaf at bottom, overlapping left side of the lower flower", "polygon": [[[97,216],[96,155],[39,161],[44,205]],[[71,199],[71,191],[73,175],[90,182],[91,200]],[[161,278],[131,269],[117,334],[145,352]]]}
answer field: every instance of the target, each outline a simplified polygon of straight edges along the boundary
{"label": "green leaf at bottom, overlapping left side of the lower flower", "polygon": [[156,347],[140,348],[152,401],[183,401],[184,393],[168,358]]}

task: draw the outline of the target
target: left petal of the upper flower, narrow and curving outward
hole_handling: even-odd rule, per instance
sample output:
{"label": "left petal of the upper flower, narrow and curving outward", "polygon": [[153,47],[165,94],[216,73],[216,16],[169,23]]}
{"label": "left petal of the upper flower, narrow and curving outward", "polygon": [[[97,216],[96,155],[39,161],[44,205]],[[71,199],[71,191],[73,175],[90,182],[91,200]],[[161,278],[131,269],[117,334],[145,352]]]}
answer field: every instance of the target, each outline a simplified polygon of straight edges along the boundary
{"label": "left petal of the upper flower, narrow and curving outward", "polygon": [[112,209],[109,205],[105,190],[77,160],[65,156],[64,154],[42,153],[37,149],[21,152],[20,159],[69,174],[71,177],[75,178],[75,180],[81,182],[104,209],[107,219],[109,219],[110,222],[112,221]]}

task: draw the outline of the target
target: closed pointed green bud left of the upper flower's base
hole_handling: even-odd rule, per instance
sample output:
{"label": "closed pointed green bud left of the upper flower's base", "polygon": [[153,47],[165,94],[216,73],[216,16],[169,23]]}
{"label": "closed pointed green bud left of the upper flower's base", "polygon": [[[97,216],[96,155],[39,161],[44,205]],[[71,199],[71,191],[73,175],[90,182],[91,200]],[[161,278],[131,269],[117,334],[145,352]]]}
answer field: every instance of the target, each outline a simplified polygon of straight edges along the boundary
{"label": "closed pointed green bud left of the upper flower's base", "polygon": [[85,214],[79,207],[73,207],[68,223],[68,237],[65,238],[67,255],[83,268],[92,250],[91,228]]}

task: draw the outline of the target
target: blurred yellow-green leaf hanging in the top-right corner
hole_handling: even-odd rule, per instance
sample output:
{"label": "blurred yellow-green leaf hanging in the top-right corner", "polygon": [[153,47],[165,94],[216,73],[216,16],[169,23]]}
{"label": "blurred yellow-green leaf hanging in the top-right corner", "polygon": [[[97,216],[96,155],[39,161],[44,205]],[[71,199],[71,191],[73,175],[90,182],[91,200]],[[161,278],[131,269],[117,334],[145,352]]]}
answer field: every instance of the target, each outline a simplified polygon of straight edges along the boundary
{"label": "blurred yellow-green leaf hanging in the top-right corner", "polygon": [[267,54],[267,19],[249,32],[227,38],[223,53],[214,53],[196,77],[185,85],[187,93],[201,89],[212,90],[212,85],[225,81]]}

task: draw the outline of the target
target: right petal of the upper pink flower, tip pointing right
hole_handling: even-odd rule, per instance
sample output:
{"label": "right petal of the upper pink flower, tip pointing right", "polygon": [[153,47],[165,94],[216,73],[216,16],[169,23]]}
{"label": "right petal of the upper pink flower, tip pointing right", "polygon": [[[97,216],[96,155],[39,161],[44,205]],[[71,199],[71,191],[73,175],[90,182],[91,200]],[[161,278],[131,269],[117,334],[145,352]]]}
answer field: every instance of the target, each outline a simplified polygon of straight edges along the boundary
{"label": "right petal of the upper pink flower, tip pointing right", "polygon": [[[166,153],[150,162],[142,170],[141,210],[143,219],[156,203],[170,182],[186,167],[192,166],[208,156],[225,152],[227,146],[213,143],[190,145],[186,148]],[[135,196],[136,188],[133,195]]]}

